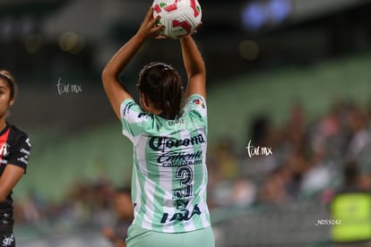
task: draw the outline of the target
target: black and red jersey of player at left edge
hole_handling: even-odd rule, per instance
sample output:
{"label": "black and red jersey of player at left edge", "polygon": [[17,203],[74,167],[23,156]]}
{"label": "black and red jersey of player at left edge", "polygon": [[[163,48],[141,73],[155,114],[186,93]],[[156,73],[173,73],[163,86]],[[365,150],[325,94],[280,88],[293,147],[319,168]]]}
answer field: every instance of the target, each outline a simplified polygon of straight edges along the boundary
{"label": "black and red jersey of player at left edge", "polygon": [[[19,166],[26,173],[30,157],[30,139],[25,132],[14,125],[7,124],[0,132],[0,176],[6,166]],[[13,211],[12,192],[0,202],[0,212]]]}

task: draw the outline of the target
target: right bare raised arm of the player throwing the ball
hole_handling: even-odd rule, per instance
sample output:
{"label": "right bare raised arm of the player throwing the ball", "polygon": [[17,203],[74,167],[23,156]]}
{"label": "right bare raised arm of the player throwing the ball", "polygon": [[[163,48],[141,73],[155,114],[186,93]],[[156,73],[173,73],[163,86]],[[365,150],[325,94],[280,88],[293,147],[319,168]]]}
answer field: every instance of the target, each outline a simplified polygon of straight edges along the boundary
{"label": "right bare raised arm of the player throwing the ball", "polygon": [[186,86],[186,98],[193,94],[200,94],[206,98],[206,69],[203,57],[200,54],[194,39],[188,35],[180,38],[182,47],[183,63],[186,67],[188,83]]}

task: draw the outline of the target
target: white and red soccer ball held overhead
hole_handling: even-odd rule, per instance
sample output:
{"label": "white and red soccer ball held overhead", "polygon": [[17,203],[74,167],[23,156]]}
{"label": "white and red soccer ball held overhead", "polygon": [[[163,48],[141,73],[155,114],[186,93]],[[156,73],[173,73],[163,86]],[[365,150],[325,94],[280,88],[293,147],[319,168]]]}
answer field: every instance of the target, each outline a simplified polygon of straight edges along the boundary
{"label": "white and red soccer ball held overhead", "polygon": [[154,0],[153,18],[161,16],[158,24],[163,25],[160,35],[181,38],[192,35],[201,23],[201,5],[197,0]]}

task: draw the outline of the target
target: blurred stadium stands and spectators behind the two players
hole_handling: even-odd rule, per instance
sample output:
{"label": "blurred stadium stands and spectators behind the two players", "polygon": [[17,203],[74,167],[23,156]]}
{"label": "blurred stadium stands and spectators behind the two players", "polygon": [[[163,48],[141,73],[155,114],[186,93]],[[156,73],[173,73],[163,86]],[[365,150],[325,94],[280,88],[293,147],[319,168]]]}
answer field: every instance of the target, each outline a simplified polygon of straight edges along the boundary
{"label": "blurred stadium stands and spectators behind the two players", "polygon": [[[341,241],[335,198],[371,189],[371,1],[199,2],[217,246]],[[19,84],[8,120],[32,142],[13,193],[18,246],[112,246],[101,229],[115,222],[112,195],[130,185],[133,158],[100,73],[150,6],[0,0],[0,67]],[[122,77],[134,95],[151,61],[186,78],[177,40],[149,40]],[[349,226],[367,234],[348,240],[371,237],[369,210]]]}

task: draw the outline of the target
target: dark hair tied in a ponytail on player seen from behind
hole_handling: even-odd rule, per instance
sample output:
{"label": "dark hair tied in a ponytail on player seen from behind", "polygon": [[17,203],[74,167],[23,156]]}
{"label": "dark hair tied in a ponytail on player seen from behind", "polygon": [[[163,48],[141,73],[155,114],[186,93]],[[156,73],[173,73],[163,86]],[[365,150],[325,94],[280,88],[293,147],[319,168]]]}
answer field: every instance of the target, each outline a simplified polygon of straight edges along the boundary
{"label": "dark hair tied in a ponytail on player seen from behind", "polygon": [[178,72],[170,65],[151,63],[144,66],[139,74],[138,89],[162,111],[166,119],[181,114],[183,90]]}

